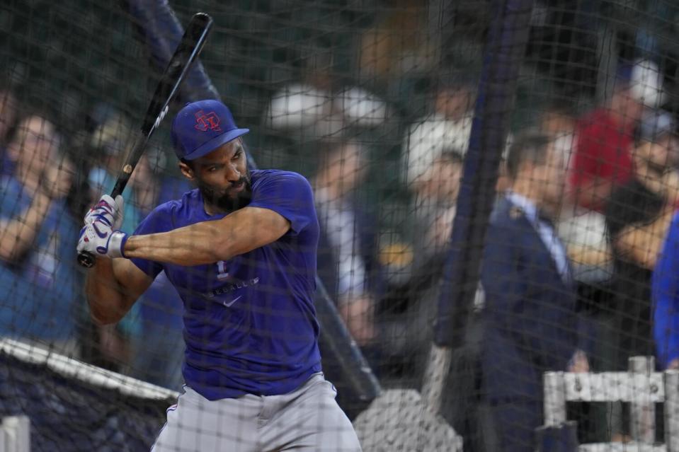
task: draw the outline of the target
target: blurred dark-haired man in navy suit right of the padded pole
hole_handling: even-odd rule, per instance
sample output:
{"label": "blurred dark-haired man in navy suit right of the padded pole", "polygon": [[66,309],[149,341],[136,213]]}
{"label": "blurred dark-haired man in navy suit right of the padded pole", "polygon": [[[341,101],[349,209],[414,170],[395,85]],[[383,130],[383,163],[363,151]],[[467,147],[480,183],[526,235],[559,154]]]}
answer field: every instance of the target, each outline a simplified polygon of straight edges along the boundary
{"label": "blurred dark-haired man in navy suit right of the padded pole", "polygon": [[564,155],[549,137],[524,134],[506,170],[510,187],[491,215],[481,267],[481,394],[496,431],[491,450],[529,452],[542,425],[542,374],[588,371],[588,361],[578,350],[568,258],[551,222]]}

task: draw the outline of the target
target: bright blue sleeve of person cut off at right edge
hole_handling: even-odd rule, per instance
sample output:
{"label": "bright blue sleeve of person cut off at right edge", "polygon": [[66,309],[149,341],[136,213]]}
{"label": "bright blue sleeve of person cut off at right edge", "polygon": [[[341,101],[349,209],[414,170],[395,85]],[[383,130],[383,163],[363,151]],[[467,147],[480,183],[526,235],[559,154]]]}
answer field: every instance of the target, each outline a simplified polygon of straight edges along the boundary
{"label": "bright blue sleeve of person cut off at right edge", "polygon": [[663,368],[679,358],[679,216],[675,216],[651,279],[653,335]]}

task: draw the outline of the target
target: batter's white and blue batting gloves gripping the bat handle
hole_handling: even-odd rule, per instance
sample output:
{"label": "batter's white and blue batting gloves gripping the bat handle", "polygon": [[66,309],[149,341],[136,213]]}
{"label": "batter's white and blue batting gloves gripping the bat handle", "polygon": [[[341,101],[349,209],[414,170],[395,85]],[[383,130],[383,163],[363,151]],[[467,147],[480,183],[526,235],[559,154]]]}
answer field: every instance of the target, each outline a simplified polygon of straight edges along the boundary
{"label": "batter's white and blue batting gloves gripping the bat handle", "polygon": [[117,231],[114,226],[122,224],[122,197],[104,195],[85,216],[85,226],[80,230],[78,253],[87,251],[93,255],[125,257],[122,249],[127,234]]}

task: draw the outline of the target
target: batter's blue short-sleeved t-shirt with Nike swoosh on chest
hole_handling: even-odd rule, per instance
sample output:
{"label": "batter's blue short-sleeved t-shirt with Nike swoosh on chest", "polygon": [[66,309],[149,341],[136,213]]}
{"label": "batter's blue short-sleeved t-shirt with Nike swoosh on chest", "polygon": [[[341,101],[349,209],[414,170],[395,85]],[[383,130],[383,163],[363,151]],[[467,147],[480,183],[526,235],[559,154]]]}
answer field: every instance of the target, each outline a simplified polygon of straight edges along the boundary
{"label": "batter's blue short-sleeved t-shirt with Nike swoosh on chest", "polygon": [[[312,299],[319,224],[311,186],[301,175],[280,170],[253,170],[251,178],[249,206],[290,221],[290,231],[278,241],[210,265],[132,259],[151,277],[164,270],[181,296],[184,379],[209,400],[290,393],[321,370]],[[192,190],[154,209],[135,235],[224,216],[208,215],[200,192]]]}

